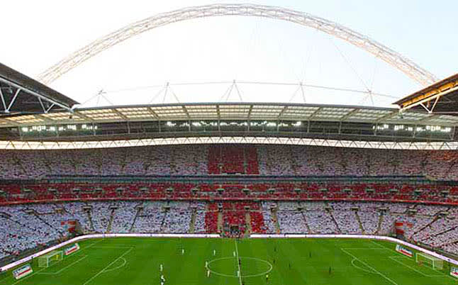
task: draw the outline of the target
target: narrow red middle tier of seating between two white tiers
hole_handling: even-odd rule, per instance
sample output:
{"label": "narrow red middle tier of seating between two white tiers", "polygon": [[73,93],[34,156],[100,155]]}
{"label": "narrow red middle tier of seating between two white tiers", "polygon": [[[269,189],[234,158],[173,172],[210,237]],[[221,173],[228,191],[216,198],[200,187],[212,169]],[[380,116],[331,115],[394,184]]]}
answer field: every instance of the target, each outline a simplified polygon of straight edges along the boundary
{"label": "narrow red middle tier of seating between two white tiers", "polygon": [[[197,190],[195,190],[197,189]],[[223,191],[220,191],[223,189]],[[248,189],[248,191],[244,191]],[[299,191],[296,191],[299,189]],[[359,183],[130,183],[0,185],[0,204],[18,202],[125,199],[351,200],[458,203],[456,186],[447,184]]]}

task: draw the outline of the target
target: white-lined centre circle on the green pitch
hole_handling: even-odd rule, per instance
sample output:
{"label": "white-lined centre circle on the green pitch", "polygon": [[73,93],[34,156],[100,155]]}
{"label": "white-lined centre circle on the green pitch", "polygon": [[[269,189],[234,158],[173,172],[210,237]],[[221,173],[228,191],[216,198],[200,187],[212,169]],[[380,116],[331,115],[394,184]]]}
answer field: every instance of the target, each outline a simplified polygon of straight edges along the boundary
{"label": "white-lined centre circle on the green pitch", "polygon": [[[256,257],[239,257],[242,278],[262,276],[272,271],[272,264]],[[206,268],[209,272],[225,277],[238,278],[237,257],[220,257],[209,261]]]}

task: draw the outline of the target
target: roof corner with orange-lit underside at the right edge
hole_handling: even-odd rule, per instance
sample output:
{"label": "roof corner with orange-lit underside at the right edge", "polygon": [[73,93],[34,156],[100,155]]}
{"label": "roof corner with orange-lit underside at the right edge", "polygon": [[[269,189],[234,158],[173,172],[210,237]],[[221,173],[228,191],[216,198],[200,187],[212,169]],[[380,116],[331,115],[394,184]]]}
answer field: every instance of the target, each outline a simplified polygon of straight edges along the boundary
{"label": "roof corner with orange-lit underside at the right edge", "polygon": [[458,74],[396,101],[401,110],[458,116]]}

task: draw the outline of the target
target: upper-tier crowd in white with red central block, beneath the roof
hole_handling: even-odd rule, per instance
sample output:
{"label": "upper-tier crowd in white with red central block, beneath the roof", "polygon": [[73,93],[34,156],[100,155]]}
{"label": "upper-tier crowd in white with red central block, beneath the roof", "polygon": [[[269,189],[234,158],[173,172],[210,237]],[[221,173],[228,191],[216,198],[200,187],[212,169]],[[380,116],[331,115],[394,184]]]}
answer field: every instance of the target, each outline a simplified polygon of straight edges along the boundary
{"label": "upper-tier crowd in white with red central block, beneath the roof", "polygon": [[91,150],[1,150],[0,178],[49,175],[390,176],[458,179],[456,150],[298,145],[163,145]]}

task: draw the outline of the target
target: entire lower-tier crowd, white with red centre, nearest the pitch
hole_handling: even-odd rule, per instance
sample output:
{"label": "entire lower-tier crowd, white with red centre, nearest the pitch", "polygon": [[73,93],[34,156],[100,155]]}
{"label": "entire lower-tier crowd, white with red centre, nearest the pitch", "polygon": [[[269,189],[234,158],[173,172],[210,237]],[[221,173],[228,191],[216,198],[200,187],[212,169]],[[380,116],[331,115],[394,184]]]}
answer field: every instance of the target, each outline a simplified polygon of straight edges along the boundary
{"label": "entire lower-tier crowd, white with red centre, nearest the pitch", "polygon": [[[453,206],[348,201],[91,201],[0,207],[0,256],[64,238],[62,222],[83,233],[395,233],[458,254],[458,210]],[[222,223],[218,225],[218,223]]]}

